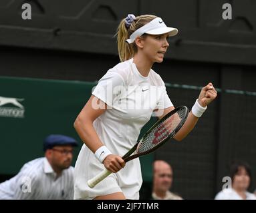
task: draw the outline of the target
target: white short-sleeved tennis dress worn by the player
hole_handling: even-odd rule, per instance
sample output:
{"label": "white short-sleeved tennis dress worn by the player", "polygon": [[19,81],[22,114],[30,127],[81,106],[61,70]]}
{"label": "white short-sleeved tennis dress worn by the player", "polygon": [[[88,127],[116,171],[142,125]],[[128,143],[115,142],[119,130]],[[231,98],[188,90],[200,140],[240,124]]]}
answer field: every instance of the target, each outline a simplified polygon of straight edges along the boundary
{"label": "white short-sleeved tennis dress worn by the player", "polygon": [[[155,108],[172,107],[160,75],[150,70],[148,77],[143,77],[133,59],[110,69],[92,94],[109,107],[94,120],[94,128],[110,152],[120,156],[137,142],[141,128],[150,120]],[[142,185],[139,158],[127,162],[123,169],[90,188],[87,181],[104,168],[84,144],[74,172],[75,199],[93,199],[114,192],[123,192],[126,199],[139,198]]]}

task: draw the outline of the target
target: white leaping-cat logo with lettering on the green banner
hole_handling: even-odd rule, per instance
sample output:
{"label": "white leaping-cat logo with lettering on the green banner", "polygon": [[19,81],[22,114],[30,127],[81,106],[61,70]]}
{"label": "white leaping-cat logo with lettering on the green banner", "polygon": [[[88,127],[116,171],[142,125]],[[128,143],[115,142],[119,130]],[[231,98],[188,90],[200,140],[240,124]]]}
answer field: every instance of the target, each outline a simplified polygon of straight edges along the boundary
{"label": "white leaping-cat logo with lettering on the green banner", "polygon": [[[17,98],[9,98],[9,97],[1,97],[0,96],[0,116],[3,117],[13,117],[13,118],[23,118],[25,108],[20,101],[24,99]],[[14,105],[15,107],[3,107],[4,105]]]}

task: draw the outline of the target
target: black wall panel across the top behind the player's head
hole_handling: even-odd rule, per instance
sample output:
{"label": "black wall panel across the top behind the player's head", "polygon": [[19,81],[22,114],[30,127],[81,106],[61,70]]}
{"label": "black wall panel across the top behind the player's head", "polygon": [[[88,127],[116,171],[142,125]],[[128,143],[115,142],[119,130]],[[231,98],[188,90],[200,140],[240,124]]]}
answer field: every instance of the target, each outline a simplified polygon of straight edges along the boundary
{"label": "black wall panel across the top behind the player's head", "polygon": [[[31,3],[31,20],[21,19],[23,3]],[[224,3],[232,5],[231,20],[222,17]],[[255,7],[250,0],[1,1],[0,45],[117,54],[120,20],[152,13],[179,29],[166,57],[255,65]]]}

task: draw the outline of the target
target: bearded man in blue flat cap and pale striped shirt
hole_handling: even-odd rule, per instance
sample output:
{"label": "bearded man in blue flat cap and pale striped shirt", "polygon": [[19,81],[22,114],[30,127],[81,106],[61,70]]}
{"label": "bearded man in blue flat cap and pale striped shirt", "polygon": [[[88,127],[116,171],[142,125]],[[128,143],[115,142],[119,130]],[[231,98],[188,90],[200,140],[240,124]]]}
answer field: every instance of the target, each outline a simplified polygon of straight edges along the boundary
{"label": "bearded man in blue flat cap and pale striped shirt", "polygon": [[45,157],[23,165],[19,173],[0,184],[0,200],[62,200],[74,198],[73,147],[74,138],[51,134],[45,138]]}

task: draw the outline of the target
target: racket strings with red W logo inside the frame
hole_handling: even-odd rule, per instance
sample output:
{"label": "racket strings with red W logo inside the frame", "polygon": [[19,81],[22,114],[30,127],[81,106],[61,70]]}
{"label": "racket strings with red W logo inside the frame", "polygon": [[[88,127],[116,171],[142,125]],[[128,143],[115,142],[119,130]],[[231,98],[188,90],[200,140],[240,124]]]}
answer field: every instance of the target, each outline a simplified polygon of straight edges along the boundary
{"label": "racket strings with red W logo inside the frame", "polygon": [[171,134],[174,134],[175,128],[178,126],[180,120],[182,120],[184,116],[186,116],[186,112],[180,109],[171,116],[164,118],[162,122],[159,122],[159,124],[156,125],[150,131],[150,133],[142,139],[138,145],[137,152],[146,152],[168,138],[168,136]]}

